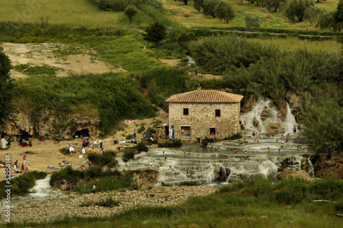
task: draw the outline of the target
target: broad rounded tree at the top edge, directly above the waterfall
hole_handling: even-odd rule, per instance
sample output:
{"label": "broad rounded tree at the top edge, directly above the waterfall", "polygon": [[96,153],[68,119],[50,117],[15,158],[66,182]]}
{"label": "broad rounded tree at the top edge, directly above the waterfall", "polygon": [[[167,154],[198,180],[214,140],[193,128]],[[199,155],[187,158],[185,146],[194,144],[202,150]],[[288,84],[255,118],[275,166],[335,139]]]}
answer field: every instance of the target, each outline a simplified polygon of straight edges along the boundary
{"label": "broad rounded tree at the top edge, directly above the waterfall", "polygon": [[314,5],[311,0],[289,0],[285,7],[285,16],[289,21],[303,21],[305,11],[311,5]]}

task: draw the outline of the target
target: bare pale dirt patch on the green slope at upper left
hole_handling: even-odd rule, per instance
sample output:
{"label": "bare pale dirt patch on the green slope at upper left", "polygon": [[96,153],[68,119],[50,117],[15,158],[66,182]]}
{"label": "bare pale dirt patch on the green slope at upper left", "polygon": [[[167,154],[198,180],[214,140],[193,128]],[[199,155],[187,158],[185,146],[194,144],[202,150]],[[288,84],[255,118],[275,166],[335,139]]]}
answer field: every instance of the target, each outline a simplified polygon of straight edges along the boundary
{"label": "bare pale dirt patch on the green slope at upper left", "polygon": [[[100,74],[109,71],[124,71],[97,60],[91,51],[63,45],[60,43],[18,44],[1,43],[3,51],[12,62],[12,66],[28,64],[29,66],[48,66],[56,70],[57,77],[71,74]],[[11,77],[28,77],[20,71],[11,70]]]}

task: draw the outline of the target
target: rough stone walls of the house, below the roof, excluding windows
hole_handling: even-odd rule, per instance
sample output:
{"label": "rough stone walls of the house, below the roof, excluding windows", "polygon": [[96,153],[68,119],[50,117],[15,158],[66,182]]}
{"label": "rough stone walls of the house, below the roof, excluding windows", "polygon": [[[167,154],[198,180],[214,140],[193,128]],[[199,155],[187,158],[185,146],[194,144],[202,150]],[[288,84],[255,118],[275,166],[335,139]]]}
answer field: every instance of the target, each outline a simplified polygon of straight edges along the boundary
{"label": "rough stone walls of the house, below the roof, excluding windows", "polygon": [[[183,114],[184,108],[189,109],[188,115]],[[220,117],[215,116],[215,110],[220,110]],[[239,112],[239,103],[169,103],[169,127],[174,125],[175,138],[182,140],[213,137],[210,127],[215,127],[215,133],[225,138],[240,133]],[[181,127],[189,127],[190,135],[182,134]]]}

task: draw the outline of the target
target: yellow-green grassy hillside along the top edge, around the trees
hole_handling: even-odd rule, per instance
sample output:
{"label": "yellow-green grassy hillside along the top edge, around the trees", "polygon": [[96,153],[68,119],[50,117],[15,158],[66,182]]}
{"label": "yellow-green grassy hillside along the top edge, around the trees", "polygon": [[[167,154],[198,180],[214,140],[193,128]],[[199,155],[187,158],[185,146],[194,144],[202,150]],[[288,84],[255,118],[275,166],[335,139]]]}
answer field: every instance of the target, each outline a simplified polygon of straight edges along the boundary
{"label": "yellow-green grassy hillside along the top edge, around the trees", "polygon": [[[268,13],[266,8],[261,5],[251,4],[244,1],[243,5],[237,5],[235,0],[226,0],[233,6],[236,17],[233,21],[226,24],[217,18],[204,16],[193,8],[193,1],[184,5],[181,1],[163,0],[165,15],[174,23],[185,27],[233,27],[245,26],[244,18],[246,16],[259,16],[261,27],[264,28],[283,28],[283,29],[305,29],[311,25],[308,21],[293,23],[289,21],[282,12],[273,12],[272,18],[265,18]],[[316,5],[327,11],[333,11],[337,8],[338,0],[328,0]],[[137,16],[134,16],[132,24],[123,12],[104,12],[86,0],[56,0],[46,1],[37,0],[30,3],[26,0],[7,1],[0,0],[0,21],[15,21],[17,23],[45,23],[49,24],[66,24],[75,27],[145,27],[154,19],[164,20],[165,16],[153,13],[151,9],[139,10]],[[190,17],[184,17],[184,12],[191,12]],[[156,17],[154,18],[154,15]]]}

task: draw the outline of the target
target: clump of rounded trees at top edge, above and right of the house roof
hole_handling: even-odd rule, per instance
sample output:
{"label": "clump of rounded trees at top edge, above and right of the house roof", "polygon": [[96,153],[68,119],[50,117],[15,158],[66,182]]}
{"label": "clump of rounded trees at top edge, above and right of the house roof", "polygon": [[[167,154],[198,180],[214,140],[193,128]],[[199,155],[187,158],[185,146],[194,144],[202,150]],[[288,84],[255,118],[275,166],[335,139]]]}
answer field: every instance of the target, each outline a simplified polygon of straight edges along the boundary
{"label": "clump of rounded trees at top edge, above and right of the house roof", "polygon": [[226,2],[220,0],[194,0],[194,8],[199,12],[202,10],[205,15],[220,18],[224,23],[235,18],[233,8]]}

